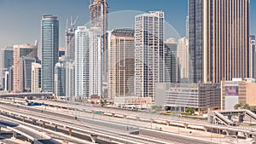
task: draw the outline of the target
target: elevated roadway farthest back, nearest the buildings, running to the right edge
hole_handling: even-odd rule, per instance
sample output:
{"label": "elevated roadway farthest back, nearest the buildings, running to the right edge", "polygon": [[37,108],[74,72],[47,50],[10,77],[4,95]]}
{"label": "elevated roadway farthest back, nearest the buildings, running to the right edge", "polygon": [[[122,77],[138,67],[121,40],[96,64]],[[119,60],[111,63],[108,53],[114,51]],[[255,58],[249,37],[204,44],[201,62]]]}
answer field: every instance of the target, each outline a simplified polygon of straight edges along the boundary
{"label": "elevated roadway farthest back, nearest the buildings, running to the right edge", "polygon": [[[43,102],[43,101],[36,101],[33,100],[33,102]],[[89,112],[89,113],[96,113],[99,112],[99,114],[101,115],[105,115],[105,116],[109,116],[109,117],[118,117],[118,118],[125,118],[125,119],[133,119],[133,120],[137,120],[137,121],[144,121],[144,122],[148,122],[148,123],[155,123],[155,124],[166,124],[166,125],[177,125],[177,126],[182,126],[184,128],[189,128],[193,127],[193,126],[200,126],[202,128],[202,130],[205,131],[212,131],[212,130],[222,130],[225,132],[226,135],[231,135],[232,133],[241,133],[241,135],[245,135],[246,137],[250,137],[250,135],[252,135],[252,133],[254,131],[256,131],[256,129],[245,129],[244,127],[239,127],[236,126],[236,124],[233,124],[233,122],[229,119],[225,119],[228,120],[228,123],[232,123],[229,125],[218,125],[218,123],[212,123],[212,124],[208,124],[207,122],[205,123],[198,123],[195,121],[189,121],[186,119],[170,119],[170,118],[162,118],[162,117],[152,117],[150,115],[143,115],[142,112],[131,112],[131,113],[127,113],[127,112],[122,112],[122,111],[113,111],[110,109],[103,109],[102,107],[88,107],[86,105],[73,105],[73,104],[66,104],[64,105],[63,103],[58,103],[55,101],[44,101],[44,105],[48,106],[48,107],[56,107],[56,108],[62,108],[62,109],[69,109],[69,110],[73,110],[73,111],[78,111],[78,112]],[[58,112],[55,112],[58,113]],[[150,114],[150,113],[148,113]],[[219,114],[219,116],[222,116],[221,114]],[[74,116],[73,116],[74,117]],[[224,117],[224,116],[222,116]],[[224,117],[225,118],[225,117]],[[89,120],[86,120],[87,122]]]}

